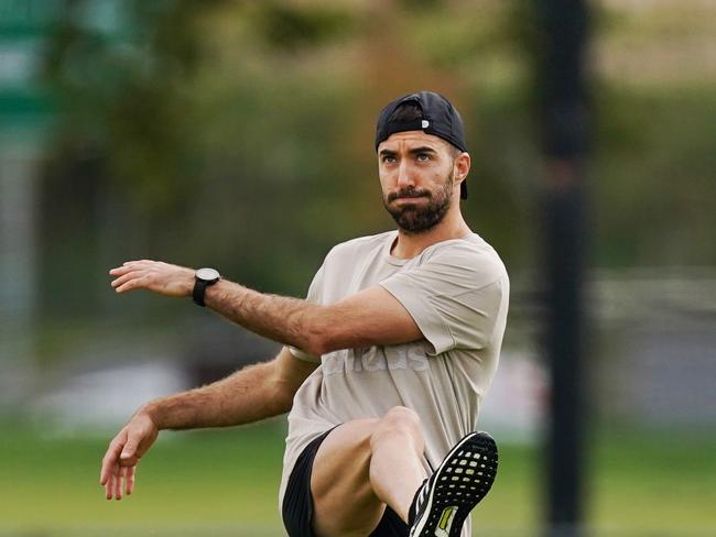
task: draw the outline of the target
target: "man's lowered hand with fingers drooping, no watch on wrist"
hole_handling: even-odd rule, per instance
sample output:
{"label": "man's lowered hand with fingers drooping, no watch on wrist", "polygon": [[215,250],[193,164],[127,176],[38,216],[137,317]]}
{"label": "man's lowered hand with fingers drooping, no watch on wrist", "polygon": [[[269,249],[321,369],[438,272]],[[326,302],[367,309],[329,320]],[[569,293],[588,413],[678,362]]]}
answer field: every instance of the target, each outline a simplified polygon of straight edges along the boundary
{"label": "man's lowered hand with fingers drooping, no watch on wrist", "polygon": [[129,495],[134,491],[135,467],[158,435],[152,418],[140,410],[109,442],[99,474],[99,484],[105,486],[107,500],[121,500],[122,492]]}

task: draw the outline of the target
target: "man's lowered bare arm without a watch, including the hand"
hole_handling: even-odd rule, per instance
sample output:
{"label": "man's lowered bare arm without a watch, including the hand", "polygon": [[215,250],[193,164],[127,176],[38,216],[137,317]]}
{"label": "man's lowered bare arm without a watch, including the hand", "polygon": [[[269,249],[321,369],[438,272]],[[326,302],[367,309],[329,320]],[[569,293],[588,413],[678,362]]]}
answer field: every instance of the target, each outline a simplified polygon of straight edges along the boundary
{"label": "man's lowered bare arm without a watch, including the hand", "polygon": [[283,348],[271,362],[142,406],[112,439],[102,459],[100,484],[107,500],[121,500],[122,491],[132,493],[137,463],[160,430],[241,425],[283,414],[316,365]]}

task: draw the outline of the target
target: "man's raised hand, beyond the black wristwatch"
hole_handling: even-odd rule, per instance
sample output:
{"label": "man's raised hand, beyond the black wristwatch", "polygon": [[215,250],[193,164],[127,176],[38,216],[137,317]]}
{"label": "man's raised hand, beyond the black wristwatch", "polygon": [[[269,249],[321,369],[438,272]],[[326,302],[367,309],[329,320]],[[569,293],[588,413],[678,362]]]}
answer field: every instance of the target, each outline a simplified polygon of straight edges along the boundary
{"label": "man's raised hand, beyond the black wristwatch", "polygon": [[109,271],[115,276],[111,285],[117,293],[148,289],[175,297],[192,296],[194,273],[192,268],[150,260],[128,261]]}

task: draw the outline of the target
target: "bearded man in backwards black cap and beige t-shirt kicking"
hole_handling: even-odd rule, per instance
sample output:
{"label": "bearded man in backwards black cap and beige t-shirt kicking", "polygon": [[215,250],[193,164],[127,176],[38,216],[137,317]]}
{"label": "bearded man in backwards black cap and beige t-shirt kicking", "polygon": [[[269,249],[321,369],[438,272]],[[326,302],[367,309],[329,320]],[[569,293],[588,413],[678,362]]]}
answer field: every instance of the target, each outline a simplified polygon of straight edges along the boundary
{"label": "bearded man in backwards black cap and beige t-shirt kicking", "polygon": [[[107,498],[162,429],[246,424],[288,410],[281,507],[291,537],[467,536],[497,448],[474,430],[497,368],[509,282],[460,213],[470,168],[463,122],[442,96],[388,105],[376,151],[395,231],[335,246],[306,300],[132,261],[118,293],[188,297],[285,344],[271,362],[141,407],[110,442]],[[430,475],[430,479],[426,479]]]}

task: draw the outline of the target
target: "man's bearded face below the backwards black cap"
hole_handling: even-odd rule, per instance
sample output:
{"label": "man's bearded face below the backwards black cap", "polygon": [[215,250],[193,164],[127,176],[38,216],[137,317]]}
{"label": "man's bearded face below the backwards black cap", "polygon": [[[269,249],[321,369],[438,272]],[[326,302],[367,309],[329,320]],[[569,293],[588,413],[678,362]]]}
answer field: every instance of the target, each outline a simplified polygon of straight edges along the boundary
{"label": "man's bearded face below the backwards black cap", "polygon": [[383,205],[406,233],[437,226],[456,191],[455,156],[444,140],[422,131],[392,134],[378,146]]}

